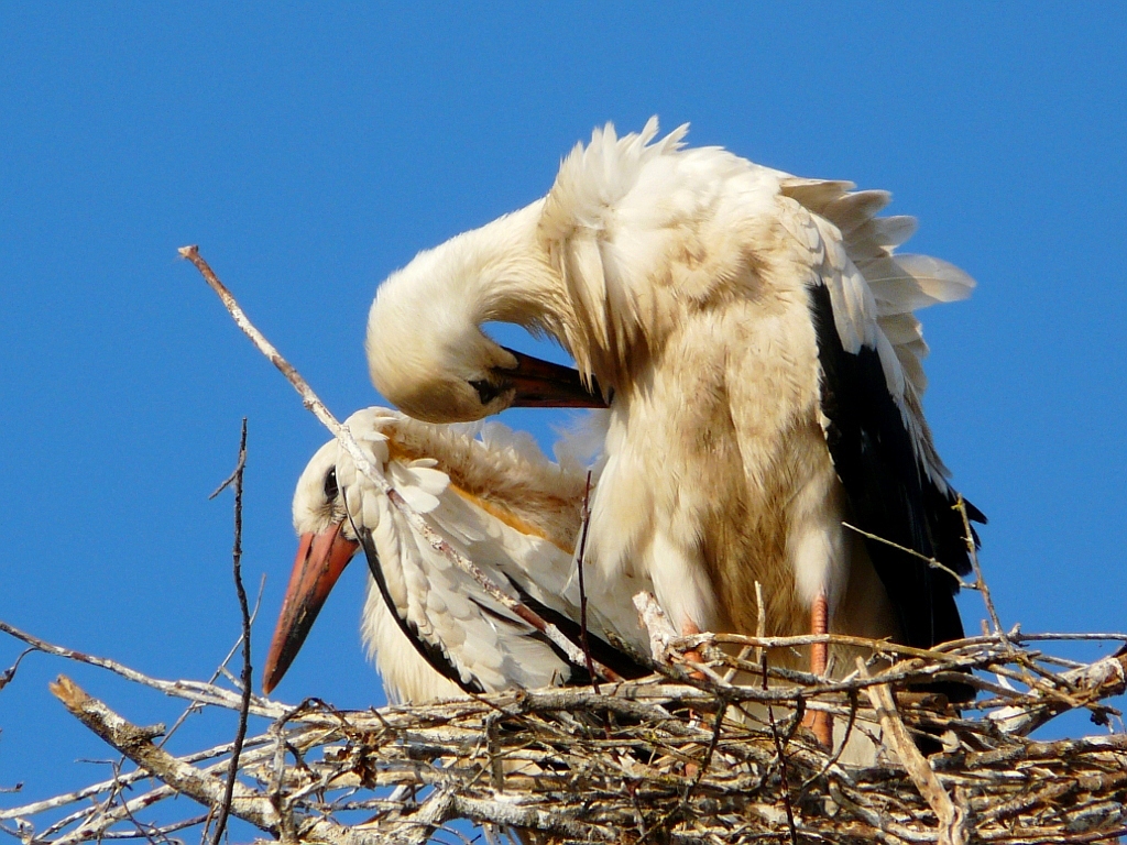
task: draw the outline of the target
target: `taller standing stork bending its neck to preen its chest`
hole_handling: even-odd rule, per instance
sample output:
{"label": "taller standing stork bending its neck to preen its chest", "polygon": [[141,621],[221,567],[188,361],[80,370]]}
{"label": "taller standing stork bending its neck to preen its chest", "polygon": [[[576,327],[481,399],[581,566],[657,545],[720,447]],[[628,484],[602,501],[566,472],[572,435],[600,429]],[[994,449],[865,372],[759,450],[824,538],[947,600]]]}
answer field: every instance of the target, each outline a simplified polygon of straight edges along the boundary
{"label": "taller standing stork bending its neck to preen its chest", "polygon": [[[588,562],[653,581],[685,632],[753,633],[758,581],[769,634],[961,637],[958,582],[925,560],[970,568],[913,312],[973,279],[894,255],[914,221],[876,216],[888,194],[686,149],[685,133],[596,130],[545,197],[392,274],[369,315],[376,389],[432,421],[609,403]],[[558,340],[589,394],[488,321]],[[841,657],[809,659],[850,670]]]}

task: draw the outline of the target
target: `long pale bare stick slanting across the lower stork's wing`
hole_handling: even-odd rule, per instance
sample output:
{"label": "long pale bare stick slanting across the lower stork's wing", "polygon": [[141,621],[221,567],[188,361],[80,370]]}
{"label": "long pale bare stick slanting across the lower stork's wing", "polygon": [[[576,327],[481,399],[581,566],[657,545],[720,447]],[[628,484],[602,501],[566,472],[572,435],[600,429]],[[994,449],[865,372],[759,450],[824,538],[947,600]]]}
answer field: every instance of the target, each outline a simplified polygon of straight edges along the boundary
{"label": "long pale bare stick slanting across the lower stork's wing", "polygon": [[[356,469],[360,470],[360,472],[363,473],[380,492],[391,500],[396,508],[398,508],[399,512],[406,517],[411,528],[418,532],[418,534],[423,536],[427,543],[429,543],[432,549],[473,578],[473,580],[476,580],[482,589],[489,594],[490,598],[515,613],[522,620],[550,639],[560,648],[560,650],[564,651],[568,660],[576,666],[586,666],[583,649],[571,642],[571,640],[569,640],[556,625],[551,624],[523,602],[513,598],[498,587],[492,579],[474,566],[469,558],[454,549],[441,534],[434,531],[426,519],[423,518],[423,515],[408,505],[402,496],[399,495],[399,491],[388,483],[388,480],[384,479],[383,475],[372,465],[372,462],[367,460],[367,456],[353,438],[348,428],[337,421],[337,418],[332,416],[326,404],[318,398],[317,393],[313,392],[313,389],[309,386],[309,383],[301,377],[301,374],[294,368],[294,366],[282,356],[274,345],[270,344],[270,341],[267,340],[257,328],[255,328],[254,323],[251,323],[247,318],[246,313],[239,306],[239,303],[236,301],[231,292],[223,285],[222,282],[220,282],[219,277],[207,265],[207,261],[205,261],[199,255],[198,248],[194,246],[180,247],[179,252],[184,258],[187,258],[195,265],[196,269],[199,270],[199,274],[204,277],[204,281],[207,282],[211,288],[219,295],[223,305],[234,319],[236,324],[242,329],[243,333],[250,338],[251,343],[254,343],[258,350],[263,353],[263,355],[265,355],[270,363],[278,368],[282,375],[286,377],[290,384],[293,385],[294,390],[296,390],[298,394],[301,397],[302,404],[304,404],[305,408],[309,409],[313,416],[316,416],[321,424],[332,433],[332,436],[336,437],[341,445],[344,445],[345,450],[355,462]],[[595,670],[606,681],[615,683],[622,681],[622,677],[613,669],[603,666],[597,660],[593,660],[592,662]]]}

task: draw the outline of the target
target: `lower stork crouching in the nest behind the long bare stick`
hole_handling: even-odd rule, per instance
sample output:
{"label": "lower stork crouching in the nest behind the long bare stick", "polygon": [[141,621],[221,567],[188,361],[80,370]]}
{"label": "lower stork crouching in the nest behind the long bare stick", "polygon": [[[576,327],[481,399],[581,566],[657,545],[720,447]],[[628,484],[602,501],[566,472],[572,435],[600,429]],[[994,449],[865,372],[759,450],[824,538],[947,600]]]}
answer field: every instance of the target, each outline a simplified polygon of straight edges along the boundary
{"label": "lower stork crouching in the nest behind the long bare stick", "polygon": [[[531,437],[522,439],[498,424],[479,426],[474,436],[467,427],[369,408],[346,425],[376,471],[434,531],[509,595],[578,640],[573,550],[586,473],[577,461],[552,463]],[[582,667],[420,537],[337,441],[322,446],[302,472],[293,516],[301,542],[264,673],[267,693],[361,549],[372,575],[363,639],[392,702],[588,683]],[[597,573],[586,586],[594,659],[625,676],[645,674],[605,642],[613,634],[644,646],[632,594],[609,590]]]}

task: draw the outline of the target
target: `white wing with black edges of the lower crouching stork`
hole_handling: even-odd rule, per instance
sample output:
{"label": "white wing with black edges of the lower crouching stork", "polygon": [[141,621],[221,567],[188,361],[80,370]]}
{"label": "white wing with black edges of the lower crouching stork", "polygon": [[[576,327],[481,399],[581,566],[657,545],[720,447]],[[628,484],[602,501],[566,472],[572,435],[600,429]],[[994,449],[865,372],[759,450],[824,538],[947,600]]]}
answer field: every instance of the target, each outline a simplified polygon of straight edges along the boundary
{"label": "white wing with black edges of the lower crouching stork", "polygon": [[[459,490],[433,459],[397,454],[394,439],[389,450],[388,438],[394,438],[399,424],[425,425],[389,417],[383,432],[364,435],[362,445],[370,451],[373,464],[443,540],[509,596],[577,641],[577,614],[565,597],[571,554],[543,536],[521,531],[518,522],[500,518],[497,508],[488,509],[480,496]],[[358,428],[352,422],[349,427],[354,433]],[[419,536],[388,497],[356,472],[343,450],[337,478],[387,607],[438,673],[473,693],[589,682],[547,637],[491,598],[471,576]],[[629,664],[598,638],[591,639],[596,659],[612,667]],[[627,669],[627,674],[638,675],[639,668]]]}

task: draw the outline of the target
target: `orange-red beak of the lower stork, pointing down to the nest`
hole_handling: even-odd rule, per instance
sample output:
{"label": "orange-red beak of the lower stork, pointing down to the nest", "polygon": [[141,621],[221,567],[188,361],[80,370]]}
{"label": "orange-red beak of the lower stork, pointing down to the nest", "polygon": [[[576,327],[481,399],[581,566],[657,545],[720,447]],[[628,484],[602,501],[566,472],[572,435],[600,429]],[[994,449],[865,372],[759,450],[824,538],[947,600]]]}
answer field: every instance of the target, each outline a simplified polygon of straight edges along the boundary
{"label": "orange-red beak of the lower stork, pointing down to the nest", "polygon": [[360,548],[340,533],[341,525],[337,523],[320,534],[301,535],[298,559],[293,562],[290,586],[282,601],[282,612],[263,670],[263,692],[267,695],[298,656],[332,585]]}

